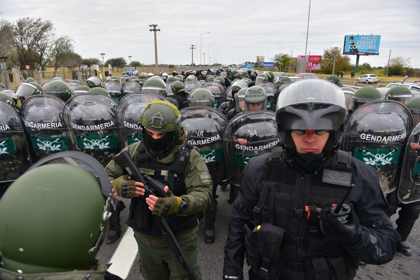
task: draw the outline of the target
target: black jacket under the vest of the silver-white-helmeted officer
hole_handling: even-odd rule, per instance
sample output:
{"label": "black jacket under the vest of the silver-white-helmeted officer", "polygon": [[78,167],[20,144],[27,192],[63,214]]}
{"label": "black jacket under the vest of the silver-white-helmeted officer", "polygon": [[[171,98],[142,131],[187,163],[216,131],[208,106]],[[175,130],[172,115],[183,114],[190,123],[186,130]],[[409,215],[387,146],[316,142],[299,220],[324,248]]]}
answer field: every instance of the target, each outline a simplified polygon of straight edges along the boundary
{"label": "black jacket under the vest of the silver-white-helmeted officer", "polygon": [[[246,251],[244,225],[253,220],[253,209],[260,197],[262,175],[269,157],[270,153],[253,157],[244,169],[239,196],[232,204],[229,214],[223,275],[236,275],[239,276],[238,279],[243,279]],[[330,162],[331,159],[329,162],[326,160],[324,164],[330,165]],[[296,167],[293,169],[299,174]],[[354,205],[360,220],[361,234],[357,243],[352,246],[342,245],[343,249],[365,263],[385,264],[394,257],[399,235],[386,215],[387,204],[381,191],[378,173],[374,168],[352,158],[352,183],[355,187],[349,195],[349,201]],[[373,240],[377,242],[373,243]]]}

